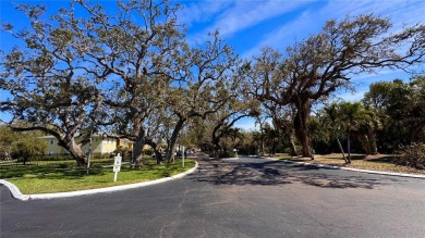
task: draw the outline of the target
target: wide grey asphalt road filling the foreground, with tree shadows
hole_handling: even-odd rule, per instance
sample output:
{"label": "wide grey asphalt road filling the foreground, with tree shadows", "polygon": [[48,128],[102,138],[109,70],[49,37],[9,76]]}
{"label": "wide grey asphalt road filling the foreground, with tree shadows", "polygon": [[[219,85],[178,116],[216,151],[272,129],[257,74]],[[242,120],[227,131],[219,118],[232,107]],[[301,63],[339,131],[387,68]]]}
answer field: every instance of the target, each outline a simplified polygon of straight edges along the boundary
{"label": "wide grey asphalt road filling the foreground, with tree shadows", "polygon": [[7,237],[425,237],[425,179],[244,158],[155,186],[22,202]]}

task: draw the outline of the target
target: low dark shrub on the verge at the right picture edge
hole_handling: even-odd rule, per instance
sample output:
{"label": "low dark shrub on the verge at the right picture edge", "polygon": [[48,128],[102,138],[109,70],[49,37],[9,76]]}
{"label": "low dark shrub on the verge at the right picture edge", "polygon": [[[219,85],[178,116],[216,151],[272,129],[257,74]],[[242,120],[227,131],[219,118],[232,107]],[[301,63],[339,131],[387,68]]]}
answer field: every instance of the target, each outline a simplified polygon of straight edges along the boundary
{"label": "low dark shrub on the verge at the right picture edge", "polygon": [[425,145],[411,143],[401,147],[402,154],[396,161],[397,164],[425,170]]}

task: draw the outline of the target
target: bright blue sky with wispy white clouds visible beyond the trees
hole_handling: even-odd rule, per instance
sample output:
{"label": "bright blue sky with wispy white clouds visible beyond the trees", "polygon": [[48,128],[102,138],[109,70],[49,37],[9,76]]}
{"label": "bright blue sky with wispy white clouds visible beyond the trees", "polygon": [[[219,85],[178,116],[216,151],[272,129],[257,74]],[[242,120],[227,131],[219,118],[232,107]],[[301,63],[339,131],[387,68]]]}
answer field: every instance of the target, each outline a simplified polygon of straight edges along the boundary
{"label": "bright blue sky with wispy white clouds visible beyond the trees", "polygon": [[[59,7],[68,7],[69,1],[13,1],[15,3],[40,2],[54,12]],[[95,1],[112,7],[114,1]],[[208,32],[219,29],[221,37],[232,46],[242,58],[251,58],[263,47],[284,50],[295,41],[301,41],[311,34],[320,30],[329,18],[343,18],[347,15],[374,13],[390,17],[392,32],[403,25],[425,23],[424,0],[197,0],[178,1],[184,9],[179,13],[179,21],[185,23],[191,42],[203,42]],[[12,1],[0,0],[1,21],[24,26],[26,21],[13,9]],[[1,34],[2,50],[11,47],[10,38]],[[368,86],[378,80],[401,78],[410,75],[403,72],[381,70],[376,74],[353,76],[356,93],[340,91],[344,100],[359,100]],[[4,98],[4,92],[1,98]],[[4,116],[0,113],[0,116]],[[254,128],[253,120],[238,123],[244,129]]]}

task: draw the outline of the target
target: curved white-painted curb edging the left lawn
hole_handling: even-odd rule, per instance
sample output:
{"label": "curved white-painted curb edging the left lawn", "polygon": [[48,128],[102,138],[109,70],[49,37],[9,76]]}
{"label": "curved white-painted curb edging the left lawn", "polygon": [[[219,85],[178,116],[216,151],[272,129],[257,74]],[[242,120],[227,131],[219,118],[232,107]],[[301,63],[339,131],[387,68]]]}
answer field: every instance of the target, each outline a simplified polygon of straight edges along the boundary
{"label": "curved white-painted curb edging the left lawn", "polygon": [[21,201],[36,200],[36,199],[70,198],[70,197],[76,197],[76,196],[83,196],[83,195],[96,195],[96,193],[101,193],[101,192],[122,191],[122,190],[132,189],[132,188],[139,188],[139,187],[145,187],[145,186],[149,186],[149,185],[161,184],[165,181],[182,178],[189,174],[192,174],[193,172],[196,171],[197,167],[198,167],[198,163],[197,163],[197,161],[195,161],[194,167],[192,167],[191,170],[189,170],[186,172],[173,175],[171,177],[165,177],[165,178],[159,178],[156,180],[142,181],[142,183],[130,184],[130,185],[120,185],[120,186],[113,186],[113,187],[107,187],[107,188],[95,188],[95,189],[88,189],[88,190],[66,191],[66,192],[56,192],[56,193],[23,195],[20,191],[20,189],[17,189],[17,187],[15,185],[13,185],[12,183],[9,183],[4,179],[0,179],[0,184],[8,187],[10,192],[12,193],[12,197],[15,199],[19,199]]}

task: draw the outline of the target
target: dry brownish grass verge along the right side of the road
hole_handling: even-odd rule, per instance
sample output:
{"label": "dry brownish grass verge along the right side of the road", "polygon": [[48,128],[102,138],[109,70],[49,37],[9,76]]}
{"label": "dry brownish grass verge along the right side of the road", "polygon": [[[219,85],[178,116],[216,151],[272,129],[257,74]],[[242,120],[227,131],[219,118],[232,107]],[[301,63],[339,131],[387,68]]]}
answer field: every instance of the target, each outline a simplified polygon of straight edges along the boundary
{"label": "dry brownish grass verge along the right side of the road", "polygon": [[298,162],[307,162],[307,163],[319,163],[341,167],[353,167],[360,170],[369,170],[369,171],[381,171],[381,172],[392,172],[392,173],[404,173],[404,174],[421,174],[425,175],[425,170],[416,170],[413,167],[401,166],[393,163],[394,154],[377,154],[377,155],[365,155],[365,154],[353,154],[351,158],[351,164],[345,164],[342,154],[326,154],[326,155],[315,155],[314,160],[309,158],[292,158],[288,154],[277,154],[274,159],[290,160]]}

